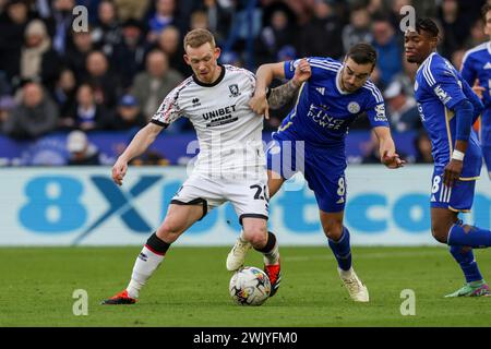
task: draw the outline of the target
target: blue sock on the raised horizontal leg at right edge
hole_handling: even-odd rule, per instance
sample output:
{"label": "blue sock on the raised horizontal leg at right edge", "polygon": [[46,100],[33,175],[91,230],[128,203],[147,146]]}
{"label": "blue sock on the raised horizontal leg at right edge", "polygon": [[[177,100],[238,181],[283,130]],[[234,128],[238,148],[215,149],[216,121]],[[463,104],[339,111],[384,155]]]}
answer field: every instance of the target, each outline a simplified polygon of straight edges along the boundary
{"label": "blue sock on the raised horizontal leg at right edge", "polygon": [[451,246],[489,248],[491,246],[491,231],[468,225],[455,224],[448,231],[447,243]]}

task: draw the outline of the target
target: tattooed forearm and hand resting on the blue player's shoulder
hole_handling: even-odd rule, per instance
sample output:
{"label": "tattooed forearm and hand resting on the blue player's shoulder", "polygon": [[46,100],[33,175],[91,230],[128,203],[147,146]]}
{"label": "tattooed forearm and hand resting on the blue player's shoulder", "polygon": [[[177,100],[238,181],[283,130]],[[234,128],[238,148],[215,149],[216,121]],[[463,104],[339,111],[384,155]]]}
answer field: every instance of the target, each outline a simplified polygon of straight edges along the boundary
{"label": "tattooed forearm and hand resting on the blue player's shoulder", "polygon": [[267,96],[267,105],[271,109],[279,109],[290,101],[300,86],[310,79],[312,71],[307,59],[300,60],[295,69],[295,75],[286,84],[271,89]]}

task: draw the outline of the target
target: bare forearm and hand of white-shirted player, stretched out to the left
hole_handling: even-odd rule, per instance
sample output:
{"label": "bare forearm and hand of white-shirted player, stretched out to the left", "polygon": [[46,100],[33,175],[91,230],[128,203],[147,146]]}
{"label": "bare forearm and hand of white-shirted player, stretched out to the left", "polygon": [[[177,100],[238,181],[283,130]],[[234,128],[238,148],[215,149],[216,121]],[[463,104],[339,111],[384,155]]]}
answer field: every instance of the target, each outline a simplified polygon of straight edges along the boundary
{"label": "bare forearm and hand of white-shirted player, stretched out to the left", "polygon": [[135,134],[131,143],[118,157],[118,160],[112,167],[112,180],[116,184],[122,184],[124,174],[127,174],[128,163],[134,157],[143,154],[143,152],[145,152],[146,148],[155,141],[161,130],[163,127],[151,122]]}

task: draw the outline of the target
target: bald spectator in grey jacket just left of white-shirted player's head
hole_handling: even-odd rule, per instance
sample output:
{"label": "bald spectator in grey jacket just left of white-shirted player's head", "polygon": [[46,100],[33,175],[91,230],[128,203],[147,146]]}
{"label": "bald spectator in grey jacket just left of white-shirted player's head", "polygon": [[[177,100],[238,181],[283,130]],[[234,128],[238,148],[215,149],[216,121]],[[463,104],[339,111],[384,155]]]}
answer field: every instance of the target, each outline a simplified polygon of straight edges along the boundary
{"label": "bald spectator in grey jacket just left of white-shirted player's head", "polygon": [[163,96],[166,96],[183,80],[182,75],[169,69],[167,56],[153,50],[146,58],[146,70],[134,79],[131,94],[139,100],[140,108],[147,120],[157,111]]}

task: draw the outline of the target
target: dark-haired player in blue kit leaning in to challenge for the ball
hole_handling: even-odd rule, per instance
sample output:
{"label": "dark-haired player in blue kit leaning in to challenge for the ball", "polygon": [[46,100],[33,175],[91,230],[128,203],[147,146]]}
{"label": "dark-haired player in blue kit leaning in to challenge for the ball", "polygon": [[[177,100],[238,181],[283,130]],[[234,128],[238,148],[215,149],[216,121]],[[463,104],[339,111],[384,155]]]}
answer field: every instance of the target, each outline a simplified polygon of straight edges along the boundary
{"label": "dark-haired player in blue kit leaning in to challenge for the ball", "polygon": [[[315,194],[322,228],[337,260],[339,276],[352,300],[368,302],[368,289],[351,265],[349,231],[343,225],[347,192],[345,137],[351,122],[367,112],[380,141],[381,161],[388,168],[404,165],[395,151],[382,95],[369,81],[376,52],[361,43],[348,51],[343,63],[312,57],[261,65],[250,101],[252,109],[267,117],[266,87],[275,77],[291,82],[300,64],[309,68],[310,76],[300,87],[295,108],[273,134],[274,145],[266,151],[270,196],[295,172],[303,173]],[[302,152],[297,147],[303,147]],[[244,245],[239,238],[227,258],[227,268],[243,263]]]}

